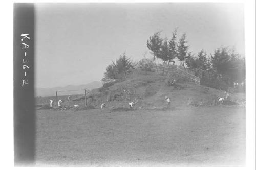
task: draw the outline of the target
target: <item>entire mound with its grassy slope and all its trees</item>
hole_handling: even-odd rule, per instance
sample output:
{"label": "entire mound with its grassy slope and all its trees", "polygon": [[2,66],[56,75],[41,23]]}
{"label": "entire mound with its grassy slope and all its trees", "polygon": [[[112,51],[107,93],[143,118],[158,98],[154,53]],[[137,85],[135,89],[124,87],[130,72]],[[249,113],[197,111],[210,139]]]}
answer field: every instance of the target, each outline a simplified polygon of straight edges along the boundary
{"label": "entire mound with its grassy slope and all its trees", "polygon": [[[104,72],[103,87],[88,93],[88,105],[100,107],[102,103],[106,103],[107,107],[122,108],[127,107],[129,102],[135,102],[136,108],[164,109],[167,107],[165,102],[165,96],[167,96],[171,100],[172,108],[212,106],[220,104],[217,102],[218,98],[225,96],[222,90],[238,92],[233,88],[234,84],[242,84],[242,91],[245,91],[244,57],[225,47],[218,48],[211,56],[207,56],[204,50],[195,56],[188,52],[189,46],[185,33],[178,42],[176,39],[177,29],[174,30],[169,41],[161,38],[160,32],[157,32],[150,36],[146,43],[153,55],[152,59],[146,58],[144,53],[140,61],[133,62],[123,53],[116,61],[112,61]],[[165,75],[160,74],[158,66],[175,64],[175,58],[182,63],[181,67],[185,68],[184,65],[186,65],[189,72],[194,72],[193,75],[200,79],[198,82],[201,85],[197,85],[175,71]],[[156,66],[157,72],[153,72],[153,67]],[[72,99],[81,99],[76,101],[65,100],[68,95],[71,93],[60,97],[64,100],[64,105],[84,106],[82,94],[72,95]],[[230,93],[230,97],[233,104],[245,104],[244,93]],[[54,97],[47,100],[38,98],[37,104],[47,104],[50,99]]]}

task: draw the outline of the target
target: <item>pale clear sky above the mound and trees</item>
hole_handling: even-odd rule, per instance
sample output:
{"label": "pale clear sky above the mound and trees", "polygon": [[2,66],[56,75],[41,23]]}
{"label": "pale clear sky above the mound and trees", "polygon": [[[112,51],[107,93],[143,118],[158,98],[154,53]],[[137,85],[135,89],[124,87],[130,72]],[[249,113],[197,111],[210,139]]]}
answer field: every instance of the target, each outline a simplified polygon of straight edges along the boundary
{"label": "pale clear sky above the mound and trees", "polygon": [[155,32],[178,39],[189,52],[213,53],[221,45],[244,55],[244,7],[240,3],[36,4],[35,86],[51,88],[100,81],[124,52],[138,61]]}

